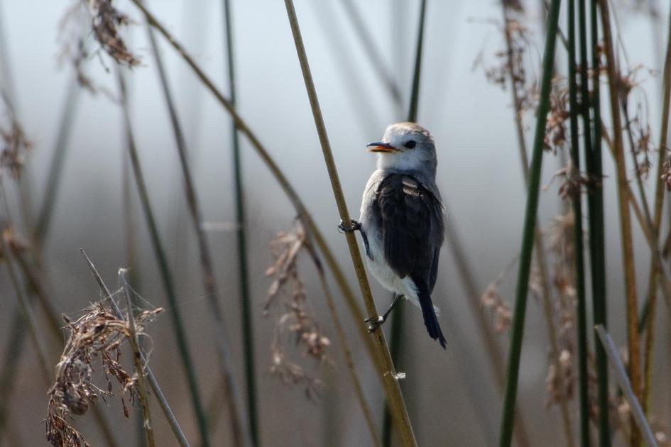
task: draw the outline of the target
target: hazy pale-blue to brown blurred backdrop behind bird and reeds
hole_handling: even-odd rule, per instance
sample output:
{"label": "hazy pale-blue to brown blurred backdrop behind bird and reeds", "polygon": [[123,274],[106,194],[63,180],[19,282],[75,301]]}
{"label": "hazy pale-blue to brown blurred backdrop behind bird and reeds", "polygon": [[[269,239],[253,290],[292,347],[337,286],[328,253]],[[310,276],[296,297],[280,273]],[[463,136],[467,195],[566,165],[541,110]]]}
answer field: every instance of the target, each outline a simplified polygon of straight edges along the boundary
{"label": "hazy pale-blue to brown blurred backdrop behind bird and reeds", "polygon": [[[222,1],[146,1],[204,72],[224,94],[229,94],[227,50]],[[650,116],[655,141],[659,134],[660,70],[669,4],[661,1],[659,16],[651,18],[651,4],[645,1],[614,1],[618,33],[626,49],[628,67],[643,65],[640,94]],[[354,9],[351,9],[354,5]],[[139,162],[146,178],[158,230],[168,255],[175,281],[187,340],[195,359],[200,394],[206,404],[222,394],[215,346],[214,319],[202,286],[202,273],[185,199],[178,151],[168,109],[161,91],[151,44],[142,13],[130,1],[114,6],[132,22],[121,29],[126,45],[140,63],[122,72],[128,87],[129,113]],[[324,114],[335,161],[352,216],[359,214],[361,193],[374,169],[375,157],[365,145],[378,140],[386,126],[404,121],[408,109],[418,33],[419,1],[297,0],[300,22],[312,75]],[[63,41],[60,23],[72,2],[0,1],[0,49],[3,64],[1,87],[14,116],[31,141],[25,170],[17,181],[2,174],[4,224],[31,245],[28,214],[38,215],[45,201],[52,201],[53,218],[40,247],[42,275],[53,309],[77,318],[90,302],[100,299],[79,249],[84,248],[111,289],[119,287],[117,270],[131,267],[133,289],[143,309],[166,307],[146,219],[132,180],[126,153],[126,131],[119,104],[115,62],[95,41],[84,70],[94,82],[92,94],[75,82],[67,57],[59,58]],[[518,20],[529,28],[529,79],[540,72],[544,41],[544,9],[540,1],[523,2]],[[354,12],[353,12],[354,11]],[[354,15],[353,15],[354,14]],[[234,58],[236,61],[237,110],[258,135],[298,191],[333,248],[351,287],[358,291],[344,236],[337,231],[339,214],[333,199],[310,105],[296,57],[293,38],[282,1],[231,1]],[[362,43],[356,20],[371,39],[378,60],[371,60]],[[516,257],[525,206],[525,187],[515,136],[514,111],[509,85],[502,89],[490,82],[485,67],[501,65],[497,53],[505,48],[501,33],[503,15],[498,1],[428,1],[425,47],[422,55],[418,122],[432,131],[438,150],[437,183],[446,202],[448,225],[458,235],[467,268],[474,277],[478,295],[503,272],[498,294],[511,304],[515,288]],[[565,20],[560,20],[564,28]],[[190,68],[159,35],[158,48],[167,70],[178,116],[185,133],[195,189],[202,208],[203,227],[214,258],[217,292],[222,300],[233,376],[239,383],[236,396],[244,409],[244,345],[239,304],[240,277],[236,245],[234,170],[231,150],[231,118],[207,92]],[[98,53],[96,53],[98,51]],[[478,61],[481,61],[480,63]],[[380,66],[381,65],[381,66]],[[563,50],[557,51],[557,70],[566,72]],[[648,70],[650,69],[650,70]],[[398,86],[395,101],[378,70],[391,76]],[[73,87],[74,86],[74,87]],[[606,89],[602,90],[606,97]],[[70,104],[69,106],[67,104]],[[8,122],[10,108],[3,119]],[[58,190],[47,195],[48,173],[54,163],[55,147],[64,116],[71,119],[65,142]],[[607,120],[607,118],[604,118]],[[531,140],[533,111],[525,116],[526,138]],[[319,397],[307,399],[304,386],[286,385],[270,371],[273,339],[282,304],[263,314],[272,278],[266,269],[275,263],[271,240],[293,227],[296,212],[276,180],[249,141],[241,137],[242,182],[246,204],[246,233],[249,256],[249,287],[253,316],[256,360],[258,421],[263,446],[365,446],[373,445],[357,404],[347,373],[342,348],[324,302],[324,294],[309,256],[301,255],[307,294],[307,308],[320,331],[327,336],[329,361],[316,362],[285,333],[280,336],[287,355],[318,378],[323,386]],[[655,143],[658,144],[658,143]],[[555,216],[564,213],[557,194],[560,182],[555,172],[565,164],[561,154],[546,153],[542,182],[547,185],[540,199],[539,222],[550,240]],[[656,159],[656,155],[655,155]],[[624,345],[624,293],[621,244],[617,218],[615,174],[612,159],[604,152],[606,204],[606,253],[609,330]],[[653,178],[645,185],[653,189]],[[18,199],[23,192],[23,201]],[[652,194],[650,192],[650,194]],[[124,199],[125,197],[125,199]],[[9,213],[8,213],[9,210]],[[357,236],[358,237],[358,236]],[[635,257],[638,289],[645,292],[649,252],[640,226],[635,225]],[[30,248],[28,248],[30,250]],[[129,258],[129,256],[131,258]],[[640,262],[639,262],[640,261]],[[551,260],[549,261],[551,262]],[[129,265],[133,263],[133,265]],[[442,309],[440,316],[447,337],[447,352],[427,337],[418,309],[403,309],[400,357],[396,368],[406,374],[401,381],[415,436],[422,446],[492,446],[496,443],[501,409],[501,390],[496,385],[488,354],[476,329],[469,293],[464,289],[459,263],[449,245],[442,250],[440,274],[433,298]],[[513,264],[512,268],[508,265]],[[508,270],[506,270],[508,269]],[[22,282],[25,282],[22,277]],[[330,289],[341,316],[354,363],[376,422],[383,420],[383,390],[361,341],[357,325],[347,312],[342,295],[332,278]],[[390,301],[388,292],[371,280],[378,309]],[[7,355],[16,321],[16,294],[8,275],[0,275],[0,368],[7,368]],[[359,297],[359,293],[356,294]],[[512,304],[511,304],[512,306]],[[496,332],[495,316],[485,309],[491,333],[503,353],[508,348],[508,331]],[[175,416],[192,445],[198,445],[198,431],[181,367],[170,310],[148,326],[153,340],[151,368],[170,402]],[[653,377],[656,390],[651,413],[663,429],[669,428],[671,396],[668,392],[668,321],[658,312],[657,343]],[[43,312],[36,307],[40,342],[48,362],[55,365],[62,351],[62,339],[46,329]],[[558,317],[557,317],[558,318]],[[591,321],[591,316],[589,318]],[[389,328],[387,328],[388,330]],[[593,346],[593,345],[591,345]],[[560,411],[547,392],[550,352],[542,304],[530,300],[520,369],[518,407],[532,446],[564,446]],[[4,429],[0,444],[43,446],[47,398],[38,374],[38,363],[24,337],[16,368],[6,396]],[[104,384],[104,382],[101,382]],[[101,387],[104,387],[101,385]],[[116,385],[115,385],[116,387]],[[573,393],[575,394],[575,393]],[[134,446],[136,406],[124,419],[121,402],[107,399],[99,407],[111,425],[119,446]],[[177,445],[160,409],[151,399],[157,445]],[[220,403],[223,402],[219,399]],[[577,433],[577,404],[567,402]],[[221,407],[221,405],[219,406]],[[243,411],[244,413],[244,411]],[[232,445],[227,412],[217,413],[212,426],[214,446]],[[244,415],[243,415],[244,416]],[[93,446],[104,445],[92,416],[75,416],[75,426]],[[621,441],[616,435],[616,443]]]}

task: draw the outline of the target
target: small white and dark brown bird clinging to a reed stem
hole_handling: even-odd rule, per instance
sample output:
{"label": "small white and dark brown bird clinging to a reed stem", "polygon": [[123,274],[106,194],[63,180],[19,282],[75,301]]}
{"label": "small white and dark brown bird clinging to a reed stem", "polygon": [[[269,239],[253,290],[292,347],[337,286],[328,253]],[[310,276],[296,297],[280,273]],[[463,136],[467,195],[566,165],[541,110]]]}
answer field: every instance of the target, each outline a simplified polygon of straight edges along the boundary
{"label": "small white and dark brown bird clinging to a reed stem", "polygon": [[433,136],[417,123],[394,123],[366,147],[377,154],[377,169],[364,189],[359,221],[339,228],[361,233],[370,272],[393,292],[385,313],[366,319],[369,332],[405,297],[422,309],[429,335],[447,349],[431,299],[447,216],[436,185]]}

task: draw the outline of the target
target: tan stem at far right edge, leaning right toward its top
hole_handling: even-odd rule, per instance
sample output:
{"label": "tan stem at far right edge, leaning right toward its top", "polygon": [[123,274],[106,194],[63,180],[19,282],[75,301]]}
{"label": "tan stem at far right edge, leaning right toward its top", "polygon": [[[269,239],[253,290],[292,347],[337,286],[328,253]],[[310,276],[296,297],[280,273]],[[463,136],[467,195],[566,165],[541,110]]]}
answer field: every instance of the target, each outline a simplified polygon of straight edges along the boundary
{"label": "tan stem at far right edge, leaning right toward its top", "polygon": [[[660,123],[660,147],[658,151],[657,172],[655,174],[655,207],[652,230],[659,236],[662,223],[662,205],[664,202],[664,182],[662,172],[664,162],[668,157],[667,137],[669,131],[669,109],[671,103],[671,13],[669,15],[669,27],[667,29],[667,47],[664,58],[664,69],[662,71],[662,118]],[[657,302],[657,277],[660,269],[657,267],[653,253],[650,260],[650,276],[648,278],[648,299],[646,300],[645,313],[645,357],[643,364],[643,411],[648,414],[650,408],[650,391],[652,390],[652,365],[653,365],[653,339],[655,336],[655,304]],[[639,326],[640,328],[640,326]]]}

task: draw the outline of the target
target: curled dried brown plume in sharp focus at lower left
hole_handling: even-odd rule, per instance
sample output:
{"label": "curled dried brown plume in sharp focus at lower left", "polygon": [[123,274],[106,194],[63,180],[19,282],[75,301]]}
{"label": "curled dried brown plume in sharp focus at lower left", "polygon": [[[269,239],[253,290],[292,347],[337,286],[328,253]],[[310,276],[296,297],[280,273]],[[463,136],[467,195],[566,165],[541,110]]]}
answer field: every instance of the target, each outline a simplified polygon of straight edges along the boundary
{"label": "curled dried brown plume in sharp focus at lower left", "polygon": [[[138,334],[142,334],[146,324],[163,311],[143,311],[136,316]],[[132,314],[132,313],[131,313]],[[128,322],[118,319],[114,313],[102,304],[94,304],[77,321],[63,316],[70,331],[70,338],[56,365],[56,377],[48,391],[49,404],[46,422],[47,440],[54,446],[89,446],[84,436],[67,421],[72,414],[84,414],[90,404],[96,404],[98,398],[114,396],[111,375],[121,385],[121,404],[124,416],[129,417],[124,394],[129,393],[131,404],[138,397],[137,373],[131,375],[120,363],[121,344],[131,336]],[[102,363],[107,378],[107,390],[102,390],[93,382],[94,360]]]}

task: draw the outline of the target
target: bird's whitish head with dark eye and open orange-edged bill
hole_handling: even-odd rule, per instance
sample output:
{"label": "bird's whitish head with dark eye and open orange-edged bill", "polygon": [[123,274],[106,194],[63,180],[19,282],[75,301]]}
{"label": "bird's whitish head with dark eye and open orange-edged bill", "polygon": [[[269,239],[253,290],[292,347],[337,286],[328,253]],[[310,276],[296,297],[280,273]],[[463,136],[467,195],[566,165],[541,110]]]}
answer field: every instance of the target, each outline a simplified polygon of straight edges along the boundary
{"label": "bird's whitish head with dark eye and open orange-edged bill", "polygon": [[427,172],[436,175],[436,147],[433,136],[415,123],[395,123],[381,141],[367,145],[378,154],[378,169]]}

